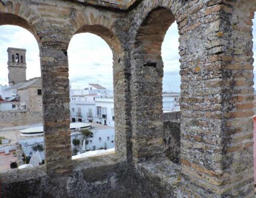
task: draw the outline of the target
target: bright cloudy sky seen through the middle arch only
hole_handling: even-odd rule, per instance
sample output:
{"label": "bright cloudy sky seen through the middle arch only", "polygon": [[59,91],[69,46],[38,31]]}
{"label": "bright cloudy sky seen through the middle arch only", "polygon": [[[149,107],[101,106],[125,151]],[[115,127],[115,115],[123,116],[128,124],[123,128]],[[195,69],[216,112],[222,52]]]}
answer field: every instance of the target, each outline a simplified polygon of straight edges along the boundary
{"label": "bright cloudy sky seen through the middle arch only", "polygon": [[99,83],[113,89],[112,51],[99,36],[90,33],[74,35],[68,46],[68,65],[74,88]]}

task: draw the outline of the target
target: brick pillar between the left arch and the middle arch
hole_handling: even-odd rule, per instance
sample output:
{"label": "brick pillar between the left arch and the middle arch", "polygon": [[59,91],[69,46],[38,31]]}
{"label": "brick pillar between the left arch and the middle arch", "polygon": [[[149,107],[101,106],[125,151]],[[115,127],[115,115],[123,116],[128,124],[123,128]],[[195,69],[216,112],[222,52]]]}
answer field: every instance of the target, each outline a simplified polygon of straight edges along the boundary
{"label": "brick pillar between the left arch and the middle arch", "polygon": [[51,176],[71,170],[67,52],[42,46],[41,72],[46,170]]}

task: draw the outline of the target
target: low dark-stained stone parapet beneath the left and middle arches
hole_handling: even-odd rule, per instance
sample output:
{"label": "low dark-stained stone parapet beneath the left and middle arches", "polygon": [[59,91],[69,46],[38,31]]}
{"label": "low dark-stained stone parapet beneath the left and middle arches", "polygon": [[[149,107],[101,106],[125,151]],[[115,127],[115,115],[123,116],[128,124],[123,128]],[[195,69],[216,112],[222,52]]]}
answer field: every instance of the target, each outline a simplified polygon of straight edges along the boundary
{"label": "low dark-stained stone parapet beneath the left and middle arches", "polygon": [[2,197],[131,197],[131,171],[117,155],[74,160],[72,174],[55,178],[44,165],[1,174]]}

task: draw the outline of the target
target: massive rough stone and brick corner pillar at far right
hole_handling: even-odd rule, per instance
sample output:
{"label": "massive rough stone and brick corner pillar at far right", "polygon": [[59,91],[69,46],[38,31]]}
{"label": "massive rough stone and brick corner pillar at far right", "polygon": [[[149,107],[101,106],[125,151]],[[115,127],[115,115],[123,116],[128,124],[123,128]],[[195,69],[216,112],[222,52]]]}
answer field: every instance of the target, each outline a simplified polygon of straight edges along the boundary
{"label": "massive rough stone and brick corner pillar at far right", "polygon": [[253,13],[248,1],[216,2],[179,24],[179,197],[253,197]]}

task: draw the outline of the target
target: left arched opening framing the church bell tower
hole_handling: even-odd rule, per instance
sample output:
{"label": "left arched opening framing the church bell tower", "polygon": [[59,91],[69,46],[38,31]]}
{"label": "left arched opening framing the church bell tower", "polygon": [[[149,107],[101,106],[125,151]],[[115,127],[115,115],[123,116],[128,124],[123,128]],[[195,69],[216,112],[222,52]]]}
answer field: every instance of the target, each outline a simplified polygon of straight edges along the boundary
{"label": "left arched opening framing the church bell tower", "polygon": [[33,166],[44,164],[43,92],[35,35],[25,19],[0,14],[0,171],[32,163],[37,150],[41,162]]}

